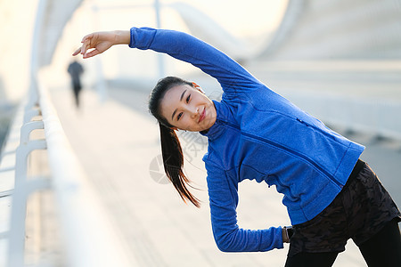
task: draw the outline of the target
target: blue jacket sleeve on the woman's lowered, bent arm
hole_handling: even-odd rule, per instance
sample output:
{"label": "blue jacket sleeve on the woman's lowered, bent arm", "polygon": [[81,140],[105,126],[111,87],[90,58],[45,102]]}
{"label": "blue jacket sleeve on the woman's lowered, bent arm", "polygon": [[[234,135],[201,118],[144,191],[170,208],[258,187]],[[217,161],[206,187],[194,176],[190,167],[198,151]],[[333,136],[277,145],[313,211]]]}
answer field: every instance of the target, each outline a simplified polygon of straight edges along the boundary
{"label": "blue jacket sleeve on the woman's lowered, bent arm", "polygon": [[211,223],[217,247],[224,252],[256,252],[282,248],[282,228],[244,230],[237,225],[237,185],[221,168],[208,169]]}

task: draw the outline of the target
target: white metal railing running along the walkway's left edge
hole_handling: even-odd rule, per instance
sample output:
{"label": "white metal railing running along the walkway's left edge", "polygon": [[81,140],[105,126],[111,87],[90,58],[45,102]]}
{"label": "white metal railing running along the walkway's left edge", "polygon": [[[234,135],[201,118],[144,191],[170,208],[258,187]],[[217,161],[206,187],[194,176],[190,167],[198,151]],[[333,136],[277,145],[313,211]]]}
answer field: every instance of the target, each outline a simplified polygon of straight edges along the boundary
{"label": "white metal railing running along the walkway's left edge", "polygon": [[[37,190],[53,190],[55,205],[61,224],[62,249],[66,266],[135,266],[123,243],[113,229],[100,199],[88,184],[78,158],[70,148],[53,104],[44,85],[36,83],[29,90],[29,99],[20,106],[14,120],[13,134],[7,142],[20,135],[16,149],[5,146],[2,158],[13,154],[15,165],[0,168],[0,179],[14,174],[13,189],[0,193],[1,198],[12,198],[10,229],[0,233],[8,240],[6,266],[24,266],[25,219],[27,200]],[[38,86],[37,86],[38,85]],[[32,118],[36,117],[35,121]],[[15,129],[20,127],[20,133]],[[45,139],[30,139],[35,129],[43,129]],[[14,145],[15,148],[15,145]],[[33,150],[46,150],[51,177],[28,178],[28,158]],[[3,166],[3,164],[1,165]],[[10,178],[10,176],[8,177]],[[1,263],[0,263],[1,264]]]}

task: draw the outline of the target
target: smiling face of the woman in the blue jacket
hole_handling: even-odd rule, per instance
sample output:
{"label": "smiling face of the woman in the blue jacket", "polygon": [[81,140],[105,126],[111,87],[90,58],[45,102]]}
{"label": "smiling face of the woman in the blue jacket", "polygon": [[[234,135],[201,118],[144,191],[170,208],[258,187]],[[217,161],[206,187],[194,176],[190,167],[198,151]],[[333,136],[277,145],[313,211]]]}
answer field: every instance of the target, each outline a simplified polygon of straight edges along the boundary
{"label": "smiling face of the woman in the blue jacket", "polygon": [[204,93],[190,85],[176,85],[160,102],[161,116],[180,130],[201,132],[216,122],[216,108]]}

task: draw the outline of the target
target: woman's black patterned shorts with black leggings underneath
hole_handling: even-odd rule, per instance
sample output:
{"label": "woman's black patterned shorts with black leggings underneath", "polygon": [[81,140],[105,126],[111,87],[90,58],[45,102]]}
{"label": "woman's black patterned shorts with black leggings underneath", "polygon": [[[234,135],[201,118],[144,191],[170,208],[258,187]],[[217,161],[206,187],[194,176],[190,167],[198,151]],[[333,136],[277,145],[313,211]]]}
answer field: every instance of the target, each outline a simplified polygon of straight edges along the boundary
{"label": "woman's black patterned shorts with black leggings underneath", "polygon": [[369,266],[401,267],[401,214],[372,169],[359,160],[322,213],[293,226],[286,267],[331,266],[353,239]]}

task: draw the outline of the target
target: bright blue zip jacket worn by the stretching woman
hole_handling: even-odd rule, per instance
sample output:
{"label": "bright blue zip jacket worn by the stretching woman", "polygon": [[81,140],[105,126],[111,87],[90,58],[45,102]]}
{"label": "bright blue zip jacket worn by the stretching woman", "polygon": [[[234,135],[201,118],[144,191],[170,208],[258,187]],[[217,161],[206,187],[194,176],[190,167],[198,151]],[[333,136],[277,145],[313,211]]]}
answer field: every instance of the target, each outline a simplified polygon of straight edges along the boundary
{"label": "bright blue zip jacket worn by the stretching woman", "polygon": [[238,183],[275,185],[292,224],[329,206],[364,150],[258,81],[224,53],[172,30],[131,28],[130,47],[168,53],[215,77],[217,121],[206,136],[211,223],[222,251],[282,248],[282,228],[244,230],[236,219]]}

